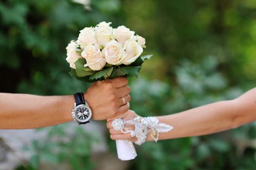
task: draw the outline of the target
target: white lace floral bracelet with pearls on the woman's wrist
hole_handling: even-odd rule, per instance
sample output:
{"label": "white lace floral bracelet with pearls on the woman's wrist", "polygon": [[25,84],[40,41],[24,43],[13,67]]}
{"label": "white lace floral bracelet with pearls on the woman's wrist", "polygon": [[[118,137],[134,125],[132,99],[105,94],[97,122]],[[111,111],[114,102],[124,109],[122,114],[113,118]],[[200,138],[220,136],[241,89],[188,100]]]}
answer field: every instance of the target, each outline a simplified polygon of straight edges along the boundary
{"label": "white lace floral bracelet with pearls on the woman's wrist", "polygon": [[[128,128],[125,128],[125,124],[134,125],[135,129],[129,130]],[[141,145],[146,142],[148,133],[150,133],[150,136],[155,142],[157,142],[159,139],[159,133],[166,133],[173,130],[171,125],[159,123],[159,119],[156,117],[136,117],[133,120],[114,119],[112,127],[116,131],[121,131],[123,134],[130,133],[131,137],[136,136],[138,140],[135,144],[137,145]]]}

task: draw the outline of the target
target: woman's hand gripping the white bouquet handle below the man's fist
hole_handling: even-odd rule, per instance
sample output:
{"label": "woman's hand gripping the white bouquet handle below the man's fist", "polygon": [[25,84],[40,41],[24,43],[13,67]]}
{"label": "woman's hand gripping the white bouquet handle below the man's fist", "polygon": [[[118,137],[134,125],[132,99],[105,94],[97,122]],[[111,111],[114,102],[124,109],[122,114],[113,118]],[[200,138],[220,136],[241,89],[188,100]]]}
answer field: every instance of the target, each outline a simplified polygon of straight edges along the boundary
{"label": "woman's hand gripping the white bouquet handle below the man's fist", "polygon": [[[131,137],[130,136],[130,133],[127,133],[127,134],[123,134],[122,132],[120,131],[116,131],[114,130],[114,128],[112,127],[112,121],[114,119],[123,119],[123,120],[133,120],[134,118],[138,117],[138,115],[132,111],[132,110],[128,110],[127,112],[121,114],[121,115],[118,115],[114,118],[111,118],[111,119],[107,119],[107,127],[109,128],[110,130],[110,138],[112,140],[128,140],[128,141],[131,141],[131,142],[135,142],[137,141],[137,137]],[[133,125],[129,125],[129,124],[126,124],[125,125],[125,128],[128,128],[129,130],[134,130],[134,126]]]}

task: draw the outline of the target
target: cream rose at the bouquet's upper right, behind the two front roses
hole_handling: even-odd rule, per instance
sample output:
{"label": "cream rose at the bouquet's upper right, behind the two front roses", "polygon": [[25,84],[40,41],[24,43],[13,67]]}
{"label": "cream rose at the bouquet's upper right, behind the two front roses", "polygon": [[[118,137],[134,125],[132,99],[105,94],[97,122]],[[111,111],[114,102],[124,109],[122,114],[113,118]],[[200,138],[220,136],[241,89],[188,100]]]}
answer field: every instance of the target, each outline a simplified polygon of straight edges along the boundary
{"label": "cream rose at the bouquet's upper right, behind the two front roses", "polygon": [[134,32],[130,31],[130,29],[126,28],[125,26],[119,26],[113,30],[113,34],[116,36],[118,43],[125,45],[125,42],[128,39],[132,39],[134,36]]}

